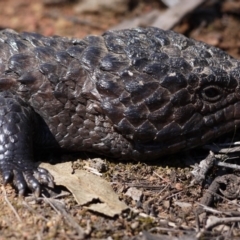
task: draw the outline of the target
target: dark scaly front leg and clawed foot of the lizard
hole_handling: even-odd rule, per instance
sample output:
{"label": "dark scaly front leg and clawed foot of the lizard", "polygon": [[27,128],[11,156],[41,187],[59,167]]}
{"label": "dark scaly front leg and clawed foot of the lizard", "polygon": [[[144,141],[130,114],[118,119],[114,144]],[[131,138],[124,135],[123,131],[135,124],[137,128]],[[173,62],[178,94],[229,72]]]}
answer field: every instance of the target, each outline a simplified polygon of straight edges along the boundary
{"label": "dark scaly front leg and clawed foot of the lizard", "polygon": [[4,184],[13,183],[19,195],[27,188],[40,194],[40,185],[53,186],[47,170],[33,163],[33,109],[9,92],[0,93],[0,171]]}

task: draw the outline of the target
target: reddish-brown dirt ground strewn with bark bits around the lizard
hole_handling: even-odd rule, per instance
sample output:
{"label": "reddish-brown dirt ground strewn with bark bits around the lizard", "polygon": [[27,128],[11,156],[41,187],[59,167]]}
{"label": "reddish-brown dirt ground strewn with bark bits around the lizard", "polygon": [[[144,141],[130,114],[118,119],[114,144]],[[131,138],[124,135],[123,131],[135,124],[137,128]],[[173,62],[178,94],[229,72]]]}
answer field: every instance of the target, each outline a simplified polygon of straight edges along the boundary
{"label": "reddish-brown dirt ground strewn with bark bits around the lizard", "polygon": [[[118,0],[98,8],[74,0],[0,0],[0,28],[82,38],[102,34],[123,20],[154,9],[164,11],[166,7],[157,0]],[[239,0],[208,1],[181,20],[174,30],[240,59]],[[11,186],[2,187],[0,240],[80,239],[82,229],[85,239],[240,239],[239,220],[204,227],[213,218],[239,217],[239,199],[216,197],[211,210],[205,212],[205,220],[196,221],[194,210],[210,184],[190,184],[191,164],[201,158],[201,151],[193,151],[151,164],[107,160],[103,178],[111,182],[119,198],[129,206],[128,211],[114,218],[87,211],[76,204],[71,194],[58,198],[64,206],[63,214],[43,198],[20,199]],[[186,159],[187,166],[180,164]],[[138,200],[126,194],[129,188],[140,192]]]}

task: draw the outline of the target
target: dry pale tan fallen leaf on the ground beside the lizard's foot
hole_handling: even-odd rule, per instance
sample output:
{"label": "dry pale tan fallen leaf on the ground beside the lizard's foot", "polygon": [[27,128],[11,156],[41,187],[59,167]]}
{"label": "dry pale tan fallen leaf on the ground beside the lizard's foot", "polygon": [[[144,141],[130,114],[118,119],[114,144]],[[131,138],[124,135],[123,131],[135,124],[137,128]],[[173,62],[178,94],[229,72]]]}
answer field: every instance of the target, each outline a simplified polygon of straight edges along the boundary
{"label": "dry pale tan fallen leaf on the ground beside the lizard's foot", "polygon": [[[87,204],[89,210],[114,217],[128,208],[103,178],[84,170],[75,170],[72,174],[71,162],[56,165],[41,163],[40,167],[53,175],[56,185],[65,186],[79,205]],[[92,203],[94,200],[100,200],[100,203]]]}

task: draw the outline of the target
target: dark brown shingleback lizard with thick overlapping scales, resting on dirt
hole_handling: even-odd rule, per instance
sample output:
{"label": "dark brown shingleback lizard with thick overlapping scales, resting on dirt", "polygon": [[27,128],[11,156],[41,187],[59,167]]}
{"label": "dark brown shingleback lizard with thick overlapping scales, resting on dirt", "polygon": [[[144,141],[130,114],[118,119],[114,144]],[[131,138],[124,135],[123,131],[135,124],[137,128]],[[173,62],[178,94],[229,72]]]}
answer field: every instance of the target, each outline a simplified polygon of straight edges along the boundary
{"label": "dark brown shingleback lizard with thick overlapping scales, resting on dirt", "polygon": [[240,126],[240,61],[172,31],[0,31],[0,170],[39,194],[39,149],[149,161]]}

